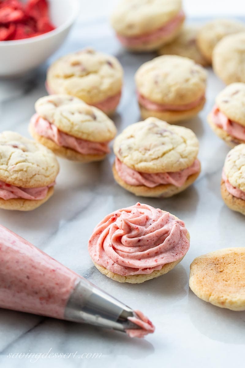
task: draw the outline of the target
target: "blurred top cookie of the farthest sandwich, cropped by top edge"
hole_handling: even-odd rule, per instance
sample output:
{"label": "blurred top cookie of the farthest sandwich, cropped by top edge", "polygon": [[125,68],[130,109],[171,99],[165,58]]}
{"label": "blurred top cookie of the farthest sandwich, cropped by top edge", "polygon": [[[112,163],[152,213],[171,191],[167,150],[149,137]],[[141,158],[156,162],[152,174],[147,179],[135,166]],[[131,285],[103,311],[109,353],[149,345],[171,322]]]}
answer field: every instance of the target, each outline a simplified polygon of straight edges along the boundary
{"label": "blurred top cookie of the farthest sandwich, cropped by top edge", "polygon": [[122,0],[111,16],[111,24],[122,36],[151,33],[181,11],[181,0]]}

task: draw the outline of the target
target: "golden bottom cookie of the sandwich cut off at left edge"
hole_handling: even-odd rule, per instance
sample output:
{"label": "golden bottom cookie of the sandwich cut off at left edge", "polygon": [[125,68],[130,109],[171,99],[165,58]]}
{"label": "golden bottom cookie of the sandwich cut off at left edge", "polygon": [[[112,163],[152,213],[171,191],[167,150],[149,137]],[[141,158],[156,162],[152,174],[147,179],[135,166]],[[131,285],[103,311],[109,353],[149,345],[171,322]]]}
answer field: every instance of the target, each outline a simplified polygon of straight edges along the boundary
{"label": "golden bottom cookie of the sandwich cut off at left edge", "polygon": [[45,203],[54,193],[54,187],[48,189],[47,195],[43,199],[23,199],[23,198],[0,198],[0,208],[15,211],[32,211]]}

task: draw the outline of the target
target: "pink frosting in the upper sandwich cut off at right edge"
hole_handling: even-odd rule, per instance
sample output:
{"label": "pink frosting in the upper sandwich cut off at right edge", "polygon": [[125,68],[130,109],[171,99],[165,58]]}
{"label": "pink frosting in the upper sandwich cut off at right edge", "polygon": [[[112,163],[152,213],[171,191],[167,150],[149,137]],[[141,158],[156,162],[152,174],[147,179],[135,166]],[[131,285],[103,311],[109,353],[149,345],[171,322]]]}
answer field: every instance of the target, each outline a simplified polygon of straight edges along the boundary
{"label": "pink frosting in the upper sandwich cut off at right edge", "polygon": [[235,121],[231,121],[223,112],[220,111],[217,105],[213,107],[211,115],[213,123],[219,128],[225,130],[233,137],[245,141],[245,127]]}

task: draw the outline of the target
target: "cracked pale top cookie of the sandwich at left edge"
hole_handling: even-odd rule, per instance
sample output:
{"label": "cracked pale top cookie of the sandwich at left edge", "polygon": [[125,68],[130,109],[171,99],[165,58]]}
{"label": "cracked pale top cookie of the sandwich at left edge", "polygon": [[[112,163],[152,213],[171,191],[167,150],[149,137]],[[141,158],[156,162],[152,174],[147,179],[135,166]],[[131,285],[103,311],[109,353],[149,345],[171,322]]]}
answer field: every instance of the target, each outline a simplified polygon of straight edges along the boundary
{"label": "cracked pale top cookie of the sandwich at left edge", "polygon": [[50,149],[22,135],[0,133],[0,180],[22,188],[52,184],[59,164]]}

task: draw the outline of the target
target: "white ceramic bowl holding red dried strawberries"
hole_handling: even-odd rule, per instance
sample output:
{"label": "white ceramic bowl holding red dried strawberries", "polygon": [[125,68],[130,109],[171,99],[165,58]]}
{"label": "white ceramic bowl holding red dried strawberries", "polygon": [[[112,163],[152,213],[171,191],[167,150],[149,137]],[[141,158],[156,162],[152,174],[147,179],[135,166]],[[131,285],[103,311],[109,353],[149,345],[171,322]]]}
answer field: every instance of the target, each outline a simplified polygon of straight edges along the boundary
{"label": "white ceramic bowl holding red dried strawberries", "polygon": [[57,27],[43,35],[16,41],[0,41],[0,77],[14,77],[42,64],[53,54],[79,13],[79,0],[49,0],[50,18]]}

